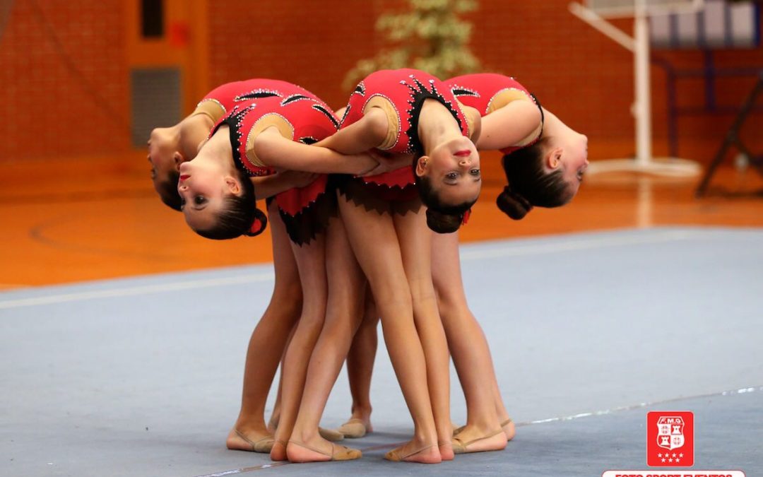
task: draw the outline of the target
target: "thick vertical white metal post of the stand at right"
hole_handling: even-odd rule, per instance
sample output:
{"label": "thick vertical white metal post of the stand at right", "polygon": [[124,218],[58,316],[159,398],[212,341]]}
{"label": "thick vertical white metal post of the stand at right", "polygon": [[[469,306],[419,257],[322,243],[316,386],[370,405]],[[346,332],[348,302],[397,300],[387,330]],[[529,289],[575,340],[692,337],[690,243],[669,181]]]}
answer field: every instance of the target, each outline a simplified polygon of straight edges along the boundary
{"label": "thick vertical white metal post of the stand at right", "polygon": [[636,81],[636,164],[646,166],[652,162],[652,93],[649,91],[649,19],[646,0],[636,0],[636,19],[633,25],[635,40],[634,66]]}

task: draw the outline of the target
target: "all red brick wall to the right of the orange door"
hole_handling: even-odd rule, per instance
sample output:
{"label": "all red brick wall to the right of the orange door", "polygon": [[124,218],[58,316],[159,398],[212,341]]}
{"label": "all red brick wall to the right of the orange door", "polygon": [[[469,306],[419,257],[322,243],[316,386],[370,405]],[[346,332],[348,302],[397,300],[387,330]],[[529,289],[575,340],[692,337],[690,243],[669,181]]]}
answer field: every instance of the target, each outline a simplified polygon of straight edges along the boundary
{"label": "all red brick wall to the right of the orange door", "polygon": [[[405,2],[226,2],[210,7],[211,84],[247,76],[275,76],[313,90],[330,105],[346,92],[340,83],[356,60],[372,56],[381,38],[373,18]],[[299,5],[299,9],[295,9]],[[634,152],[633,55],[572,16],[568,0],[481,0],[469,19],[475,25],[472,49],[485,69],[516,76],[543,105],[578,131],[588,134],[594,158]],[[632,21],[617,21],[630,33]],[[236,32],[231,35],[230,32]],[[235,37],[235,41],[230,40]],[[655,51],[676,66],[701,68],[697,51]],[[716,65],[759,66],[763,49],[716,51]],[[719,102],[739,105],[755,79],[722,79]],[[702,105],[704,85],[678,84],[678,105]],[[761,102],[763,105],[763,102]],[[667,153],[665,73],[652,67],[652,118],[655,154]],[[732,123],[729,114],[684,117],[678,121],[679,153],[707,161]],[[745,139],[763,150],[758,114],[745,127]],[[760,137],[755,137],[760,136]]]}

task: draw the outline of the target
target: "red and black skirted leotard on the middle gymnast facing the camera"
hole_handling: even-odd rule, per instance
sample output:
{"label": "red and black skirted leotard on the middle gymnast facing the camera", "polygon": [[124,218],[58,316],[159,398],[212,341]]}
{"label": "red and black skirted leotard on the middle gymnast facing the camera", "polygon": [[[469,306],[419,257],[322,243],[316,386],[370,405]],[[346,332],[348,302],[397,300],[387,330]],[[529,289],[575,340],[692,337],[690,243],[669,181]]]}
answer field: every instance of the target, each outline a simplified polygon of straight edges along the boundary
{"label": "red and black skirted leotard on the middle gymnast facing the camera", "polygon": [[[381,108],[388,117],[389,129],[378,150],[388,153],[413,153],[423,147],[418,134],[419,114],[425,100],[442,103],[469,137],[472,127],[448,85],[417,69],[383,69],[366,76],[349,97],[340,127],[359,121],[368,108]],[[378,176],[340,180],[340,192],[356,203],[373,201],[411,201],[418,197],[413,167],[404,167]],[[385,210],[388,208],[385,208]],[[378,211],[379,208],[377,208]]]}

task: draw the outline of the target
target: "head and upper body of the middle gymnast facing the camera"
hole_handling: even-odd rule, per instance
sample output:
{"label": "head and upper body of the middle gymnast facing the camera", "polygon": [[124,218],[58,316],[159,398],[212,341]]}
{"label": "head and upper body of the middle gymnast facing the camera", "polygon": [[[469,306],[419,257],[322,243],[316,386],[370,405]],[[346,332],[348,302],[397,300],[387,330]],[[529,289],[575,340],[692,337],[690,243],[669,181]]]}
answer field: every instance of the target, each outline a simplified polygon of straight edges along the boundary
{"label": "head and upper body of the middle gymnast facing the camera", "polygon": [[361,146],[409,154],[414,163],[412,170],[355,179],[369,187],[350,184],[345,190],[348,197],[376,189],[377,195],[410,199],[415,187],[427,205],[427,222],[433,230],[461,224],[481,189],[479,155],[470,140],[478,137],[480,116],[460,104],[447,85],[415,69],[372,73],[350,96],[343,127],[348,132],[332,139],[337,150],[342,150],[346,138],[361,136],[353,131],[370,128],[381,135],[381,142],[375,143],[375,134],[365,134]]}

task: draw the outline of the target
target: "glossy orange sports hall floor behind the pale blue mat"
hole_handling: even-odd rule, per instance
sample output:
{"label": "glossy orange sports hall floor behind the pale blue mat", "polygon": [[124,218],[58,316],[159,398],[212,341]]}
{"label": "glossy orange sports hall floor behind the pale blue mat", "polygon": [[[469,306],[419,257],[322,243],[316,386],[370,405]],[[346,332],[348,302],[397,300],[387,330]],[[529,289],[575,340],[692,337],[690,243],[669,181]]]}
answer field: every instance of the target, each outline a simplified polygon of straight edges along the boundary
{"label": "glossy orange sports hall floor behind the pale blue mat", "polygon": [[[0,162],[0,289],[272,259],[266,237],[220,243],[193,234],[154,195],[145,157],[136,151]],[[698,200],[698,179],[635,175],[589,176],[571,205],[514,222],[494,206],[500,175],[486,172],[481,200],[462,229],[465,241],[658,225],[763,226],[759,195]],[[713,184],[749,192],[761,189],[763,178],[754,169],[726,168]]]}

